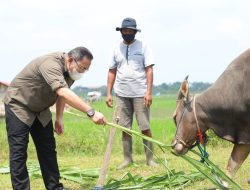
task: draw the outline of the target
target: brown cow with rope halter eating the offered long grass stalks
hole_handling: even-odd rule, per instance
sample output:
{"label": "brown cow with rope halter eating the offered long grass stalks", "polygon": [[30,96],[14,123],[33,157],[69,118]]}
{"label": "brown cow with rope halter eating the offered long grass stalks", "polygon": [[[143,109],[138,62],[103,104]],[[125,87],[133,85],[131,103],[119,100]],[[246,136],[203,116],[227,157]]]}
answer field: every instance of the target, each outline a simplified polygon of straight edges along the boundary
{"label": "brown cow with rope halter eating the offered long grass stalks", "polygon": [[176,154],[185,154],[197,139],[198,130],[212,129],[234,143],[227,171],[233,177],[250,152],[250,49],[237,57],[200,95],[189,96],[187,78],[182,82],[173,115],[177,131]]}

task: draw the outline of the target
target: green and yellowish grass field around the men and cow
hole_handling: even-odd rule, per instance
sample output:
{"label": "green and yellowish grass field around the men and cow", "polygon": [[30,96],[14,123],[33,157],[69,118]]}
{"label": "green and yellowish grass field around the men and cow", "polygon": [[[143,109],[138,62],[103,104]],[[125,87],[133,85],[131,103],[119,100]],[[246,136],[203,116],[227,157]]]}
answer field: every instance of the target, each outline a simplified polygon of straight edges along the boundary
{"label": "green and yellowish grass field around the men and cow", "polygon": [[[105,116],[112,120],[112,109],[105,106],[104,101],[92,104],[92,106],[105,114]],[[175,109],[175,97],[156,97],[154,98],[151,108],[151,129],[153,137],[161,142],[170,144],[174,133],[175,126],[172,122],[172,113]],[[78,112],[77,112],[78,113]],[[80,113],[81,114],[81,113]],[[85,117],[85,115],[83,115]],[[102,127],[94,125],[90,120],[72,116],[64,115],[65,133],[62,136],[56,136],[57,153],[59,166],[77,166],[82,169],[100,167],[105,147],[107,144],[107,137],[109,127]],[[134,122],[133,129],[137,130],[136,122]],[[210,133],[211,134],[211,133]],[[217,139],[212,134],[212,141],[209,143],[208,152],[210,160],[217,164],[223,171],[225,171],[227,160],[232,150],[232,144]],[[118,131],[112,149],[112,156],[110,161],[110,168],[108,173],[109,178],[119,178],[126,172],[132,174],[139,174],[142,176],[150,176],[164,173],[166,169],[163,166],[157,168],[150,168],[145,165],[145,156],[142,146],[142,139],[133,138],[133,156],[135,164],[124,170],[116,170],[116,166],[122,161],[121,149],[121,132]],[[160,159],[165,157],[168,160],[168,167],[177,171],[194,171],[188,163],[181,158],[172,155],[169,152],[163,154],[162,151],[155,147],[155,153]],[[28,149],[28,161],[37,163],[36,152],[32,140],[30,139]],[[0,166],[8,165],[8,144],[6,138],[6,130],[4,120],[0,120]],[[247,184],[250,169],[250,157],[245,161],[243,167],[239,170],[235,177],[244,189],[250,189]],[[68,189],[91,189],[95,186],[96,181],[86,181],[84,185],[62,180],[65,187]],[[198,181],[185,187],[187,190],[191,189],[209,189],[214,187],[208,180]],[[10,176],[0,175],[0,189],[11,189]],[[31,189],[44,189],[42,179],[31,179]]]}

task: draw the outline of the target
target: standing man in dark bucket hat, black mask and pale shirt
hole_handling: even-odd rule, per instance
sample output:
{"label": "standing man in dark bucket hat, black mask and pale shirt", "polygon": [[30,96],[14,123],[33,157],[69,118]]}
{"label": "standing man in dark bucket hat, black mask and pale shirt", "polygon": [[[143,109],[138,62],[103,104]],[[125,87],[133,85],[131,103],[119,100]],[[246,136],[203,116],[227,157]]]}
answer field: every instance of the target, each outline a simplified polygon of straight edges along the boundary
{"label": "standing man in dark bucket hat, black mask and pale shirt", "polygon": [[[107,100],[108,107],[113,106],[112,89],[116,94],[115,117],[119,124],[131,128],[133,115],[141,132],[152,137],[149,124],[150,106],[152,104],[153,61],[149,47],[135,39],[137,32],[136,20],[125,18],[122,26],[116,31],[121,32],[123,41],[114,49],[108,71]],[[123,132],[124,161],[118,169],[127,167],[133,162],[132,137]],[[156,166],[153,160],[153,145],[143,140],[147,165]]]}

